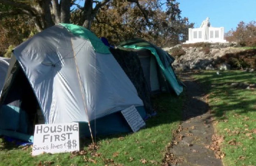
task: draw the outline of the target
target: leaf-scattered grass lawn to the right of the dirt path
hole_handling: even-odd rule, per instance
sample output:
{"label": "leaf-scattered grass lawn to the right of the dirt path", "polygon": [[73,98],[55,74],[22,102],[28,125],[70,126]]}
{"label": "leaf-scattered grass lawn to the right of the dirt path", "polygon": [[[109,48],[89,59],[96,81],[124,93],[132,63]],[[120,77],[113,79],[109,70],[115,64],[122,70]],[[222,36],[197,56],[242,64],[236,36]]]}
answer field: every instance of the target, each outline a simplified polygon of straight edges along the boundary
{"label": "leaf-scattered grass lawn to the right of the dirt path", "polygon": [[206,86],[216,133],[224,137],[225,166],[256,166],[256,89],[232,83],[256,83],[256,72],[204,71],[194,75]]}

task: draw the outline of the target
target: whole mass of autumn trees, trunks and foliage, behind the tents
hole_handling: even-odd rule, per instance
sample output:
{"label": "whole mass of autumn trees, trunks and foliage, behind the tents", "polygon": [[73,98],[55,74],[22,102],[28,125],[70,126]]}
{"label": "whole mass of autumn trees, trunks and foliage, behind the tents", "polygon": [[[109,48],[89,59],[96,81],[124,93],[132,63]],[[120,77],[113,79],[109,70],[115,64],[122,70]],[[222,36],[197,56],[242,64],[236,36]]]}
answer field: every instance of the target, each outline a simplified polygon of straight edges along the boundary
{"label": "whole mass of autumn trees, trunks and foliage, behind the tents", "polygon": [[[81,2],[83,4],[81,4]],[[73,23],[105,36],[111,43],[139,37],[159,46],[187,37],[189,24],[175,0],[0,0],[0,54],[35,30]]]}

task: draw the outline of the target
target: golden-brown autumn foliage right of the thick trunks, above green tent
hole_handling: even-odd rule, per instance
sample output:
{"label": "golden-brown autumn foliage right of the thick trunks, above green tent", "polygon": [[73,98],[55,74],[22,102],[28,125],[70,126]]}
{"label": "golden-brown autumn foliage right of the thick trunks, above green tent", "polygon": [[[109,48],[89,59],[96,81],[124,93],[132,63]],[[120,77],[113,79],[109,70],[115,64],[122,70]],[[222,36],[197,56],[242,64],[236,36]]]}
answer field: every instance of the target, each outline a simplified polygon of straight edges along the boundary
{"label": "golden-brown autumn foliage right of the thick trunks, above green tent", "polygon": [[143,38],[161,47],[178,44],[180,34],[183,40],[188,38],[188,28],[193,24],[187,18],[181,18],[179,3],[175,0],[141,0],[141,9],[125,0],[113,0],[101,8],[92,30],[98,36],[104,36],[113,44],[130,38]]}

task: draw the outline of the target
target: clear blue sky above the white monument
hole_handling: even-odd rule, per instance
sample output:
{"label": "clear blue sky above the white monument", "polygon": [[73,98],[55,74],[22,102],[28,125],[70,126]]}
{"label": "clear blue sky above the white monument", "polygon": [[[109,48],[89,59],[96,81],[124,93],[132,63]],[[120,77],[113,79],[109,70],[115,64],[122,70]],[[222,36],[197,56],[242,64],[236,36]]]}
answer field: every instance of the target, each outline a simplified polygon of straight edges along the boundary
{"label": "clear blue sky above the white monument", "polygon": [[180,3],[181,16],[188,17],[198,28],[206,17],[211,26],[224,26],[227,32],[235,30],[240,21],[256,21],[256,0],[176,0]]}

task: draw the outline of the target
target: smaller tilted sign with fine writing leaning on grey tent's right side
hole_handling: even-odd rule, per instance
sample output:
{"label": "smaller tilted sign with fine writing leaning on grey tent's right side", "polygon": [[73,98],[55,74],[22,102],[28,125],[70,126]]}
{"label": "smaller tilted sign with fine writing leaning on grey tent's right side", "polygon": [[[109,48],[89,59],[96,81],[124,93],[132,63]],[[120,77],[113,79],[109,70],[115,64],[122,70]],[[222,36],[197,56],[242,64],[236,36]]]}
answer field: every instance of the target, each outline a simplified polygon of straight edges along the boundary
{"label": "smaller tilted sign with fine writing leaning on grey tent's right side", "polygon": [[121,111],[125,120],[128,122],[133,132],[140,130],[146,123],[141,118],[140,113],[134,106],[128,107]]}

